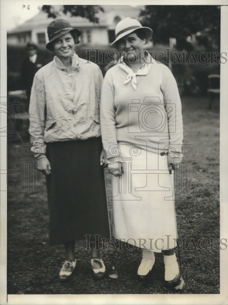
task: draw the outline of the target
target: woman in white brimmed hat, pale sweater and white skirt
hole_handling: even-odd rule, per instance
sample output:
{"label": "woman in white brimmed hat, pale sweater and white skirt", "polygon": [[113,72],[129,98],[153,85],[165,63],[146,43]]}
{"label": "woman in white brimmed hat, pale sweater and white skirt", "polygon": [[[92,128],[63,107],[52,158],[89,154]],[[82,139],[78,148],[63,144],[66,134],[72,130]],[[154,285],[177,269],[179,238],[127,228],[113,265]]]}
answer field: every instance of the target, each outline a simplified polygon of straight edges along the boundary
{"label": "woman in white brimmed hat, pale sweater and white skirt", "polygon": [[163,250],[165,282],[173,284],[179,267],[169,173],[172,157],[182,156],[181,102],[173,74],[144,50],[151,35],[135,19],[116,25],[112,46],[122,56],[102,87],[102,142],[113,175],[113,235],[142,248],[140,279],[150,274],[154,252]]}

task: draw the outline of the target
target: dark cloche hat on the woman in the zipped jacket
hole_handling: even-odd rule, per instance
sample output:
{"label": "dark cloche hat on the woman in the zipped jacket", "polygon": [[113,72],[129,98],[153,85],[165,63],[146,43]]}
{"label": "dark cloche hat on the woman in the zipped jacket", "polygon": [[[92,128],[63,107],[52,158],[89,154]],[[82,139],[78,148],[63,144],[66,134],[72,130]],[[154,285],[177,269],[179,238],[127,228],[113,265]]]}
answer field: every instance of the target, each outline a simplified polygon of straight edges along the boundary
{"label": "dark cloche hat on the woman in the zipped jacket", "polygon": [[73,28],[71,24],[64,19],[55,19],[48,25],[48,39],[49,42],[46,44],[46,48],[51,51],[51,42],[60,36],[67,33],[76,34],[78,37],[81,35],[80,30]]}

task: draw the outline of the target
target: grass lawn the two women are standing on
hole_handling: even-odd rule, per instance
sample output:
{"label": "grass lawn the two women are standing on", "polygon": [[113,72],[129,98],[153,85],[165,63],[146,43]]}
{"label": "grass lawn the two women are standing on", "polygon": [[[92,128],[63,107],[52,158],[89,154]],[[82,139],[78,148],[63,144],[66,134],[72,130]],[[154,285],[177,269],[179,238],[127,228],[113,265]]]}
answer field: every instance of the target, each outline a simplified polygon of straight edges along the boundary
{"label": "grass lawn the two women are standing on", "polygon": [[[186,286],[185,294],[219,293],[219,250],[202,250],[197,246],[201,238],[208,243],[219,240],[219,109],[208,110],[207,97],[182,97],[184,144],[193,144],[197,153],[188,158],[188,194],[176,196],[176,218],[179,239],[186,239],[189,249],[181,250],[181,261]],[[24,135],[23,141],[28,141]],[[27,142],[28,143],[28,142]],[[12,147],[20,142],[9,141],[8,169],[20,170],[21,157],[12,154]],[[25,155],[31,156],[25,145]],[[110,175],[107,173],[108,193]],[[20,173],[8,175],[8,185],[22,190]],[[45,177],[37,173],[37,194],[46,196]],[[8,294],[169,294],[164,287],[162,254],[155,253],[155,266],[145,282],[137,280],[136,272],[141,250],[114,251],[118,280],[91,276],[90,253],[85,241],[77,243],[76,272],[67,283],[58,281],[64,260],[63,246],[48,245],[47,201],[12,200],[20,192],[8,192]],[[110,204],[110,203],[109,203]],[[194,246],[196,244],[196,247]],[[202,242],[205,245],[205,242]],[[214,246],[216,247],[216,246]],[[109,250],[102,251],[106,267],[111,268]]]}

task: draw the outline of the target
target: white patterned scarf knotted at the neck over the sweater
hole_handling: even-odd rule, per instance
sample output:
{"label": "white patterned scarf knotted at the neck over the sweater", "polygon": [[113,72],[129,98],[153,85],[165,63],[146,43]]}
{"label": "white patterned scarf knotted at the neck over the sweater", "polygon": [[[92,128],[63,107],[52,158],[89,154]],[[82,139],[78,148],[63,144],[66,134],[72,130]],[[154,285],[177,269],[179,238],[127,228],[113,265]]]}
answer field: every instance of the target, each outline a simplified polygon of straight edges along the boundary
{"label": "white patterned scarf knotted at the neck over the sweater", "polygon": [[124,81],[123,84],[128,84],[131,81],[131,85],[134,88],[134,90],[137,89],[136,75],[147,75],[151,68],[150,63],[152,62],[151,61],[152,57],[146,50],[144,52],[146,54],[145,63],[135,73],[131,70],[131,68],[129,66],[126,65],[123,56],[121,56],[121,58],[119,59],[119,62],[118,62],[119,67],[127,73],[126,80]]}

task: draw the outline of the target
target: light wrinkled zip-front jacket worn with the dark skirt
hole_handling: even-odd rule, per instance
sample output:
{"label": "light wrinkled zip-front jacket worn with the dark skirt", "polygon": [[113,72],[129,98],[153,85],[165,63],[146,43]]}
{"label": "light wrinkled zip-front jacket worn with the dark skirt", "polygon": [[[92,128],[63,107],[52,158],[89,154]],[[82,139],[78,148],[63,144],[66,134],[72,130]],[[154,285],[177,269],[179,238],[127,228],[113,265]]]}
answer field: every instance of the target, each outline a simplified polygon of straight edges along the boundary
{"label": "light wrinkled zip-front jacket worn with the dark skirt", "polygon": [[29,133],[35,156],[48,142],[99,137],[99,104],[103,76],[100,68],[73,54],[68,73],[55,56],[34,76],[29,106]]}

